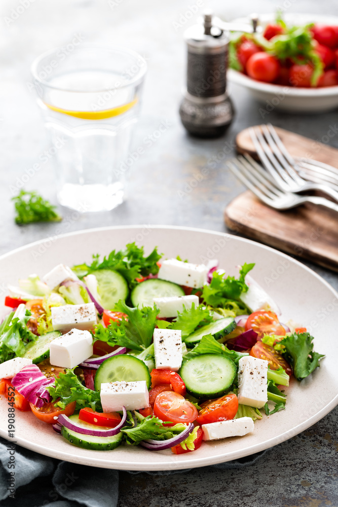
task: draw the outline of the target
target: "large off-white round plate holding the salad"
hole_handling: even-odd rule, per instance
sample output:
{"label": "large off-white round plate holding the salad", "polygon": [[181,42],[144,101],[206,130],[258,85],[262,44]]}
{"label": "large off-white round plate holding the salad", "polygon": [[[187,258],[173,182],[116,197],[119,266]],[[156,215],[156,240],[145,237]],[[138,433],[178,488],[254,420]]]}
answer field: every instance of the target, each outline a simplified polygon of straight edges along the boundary
{"label": "large off-white round plate holding the salad", "polygon": [[[155,245],[166,257],[201,263],[217,258],[229,274],[236,265],[255,262],[253,274],[282,310],[282,319],[293,318],[313,330],[315,350],[327,354],[321,367],[301,383],[288,389],[286,410],[255,422],[245,437],[204,443],[192,453],[147,451],[121,446],[113,451],[88,451],[71,446],[51,426],[31,413],[16,412],[16,441],[19,445],[55,458],[128,470],[172,470],[230,461],[262,451],[305,430],[338,403],[336,358],[336,313],[338,294],[316,273],[272,248],[228,234],[199,229],[152,226],[109,227],[66,234],[18,248],[0,258],[1,282],[16,283],[30,273],[43,275],[56,264],[90,261],[92,253],[107,254],[136,240],[150,252]],[[1,303],[1,302],[0,302]],[[0,401],[0,435],[7,437],[7,405]]]}

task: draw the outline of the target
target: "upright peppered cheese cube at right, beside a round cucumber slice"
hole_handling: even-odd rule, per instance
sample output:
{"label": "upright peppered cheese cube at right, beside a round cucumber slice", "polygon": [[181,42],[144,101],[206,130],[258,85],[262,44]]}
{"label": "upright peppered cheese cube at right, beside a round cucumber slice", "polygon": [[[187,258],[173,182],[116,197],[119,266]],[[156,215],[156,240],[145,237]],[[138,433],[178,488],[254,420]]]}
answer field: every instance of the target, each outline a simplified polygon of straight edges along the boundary
{"label": "upright peppered cheese cube at right, beside a round cucumber slice", "polygon": [[268,401],[268,361],[247,355],[238,361],[238,403],[264,407]]}

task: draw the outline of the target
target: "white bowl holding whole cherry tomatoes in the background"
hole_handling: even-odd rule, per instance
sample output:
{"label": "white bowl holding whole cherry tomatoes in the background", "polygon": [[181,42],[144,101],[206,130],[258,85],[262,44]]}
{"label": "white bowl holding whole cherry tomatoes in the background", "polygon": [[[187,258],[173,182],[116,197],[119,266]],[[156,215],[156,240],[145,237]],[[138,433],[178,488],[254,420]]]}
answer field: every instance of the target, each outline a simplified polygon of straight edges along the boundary
{"label": "white bowl holding whole cherry tomatoes in the background", "polygon": [[[265,26],[274,22],[275,18],[275,14],[259,14],[259,24]],[[336,16],[286,13],[283,14],[283,18],[287,25],[305,25],[313,22],[338,25]],[[237,18],[234,22],[250,23],[250,20]],[[255,81],[234,69],[228,70],[228,79],[247,88],[254,98],[262,102],[262,111],[266,110],[267,115],[274,109],[290,113],[324,113],[338,107],[338,86],[296,88],[274,85]]]}

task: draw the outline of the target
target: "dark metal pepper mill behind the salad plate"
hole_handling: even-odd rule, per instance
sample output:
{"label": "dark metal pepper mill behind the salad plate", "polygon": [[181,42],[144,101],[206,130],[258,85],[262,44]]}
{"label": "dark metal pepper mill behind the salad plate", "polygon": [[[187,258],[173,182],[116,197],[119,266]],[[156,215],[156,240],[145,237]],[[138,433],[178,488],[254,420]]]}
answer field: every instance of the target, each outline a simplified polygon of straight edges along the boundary
{"label": "dark metal pepper mill behind the salad plate", "polygon": [[229,38],[227,32],[204,14],[204,24],[186,30],[188,48],[187,87],[179,108],[181,121],[190,134],[219,137],[234,117],[227,93]]}

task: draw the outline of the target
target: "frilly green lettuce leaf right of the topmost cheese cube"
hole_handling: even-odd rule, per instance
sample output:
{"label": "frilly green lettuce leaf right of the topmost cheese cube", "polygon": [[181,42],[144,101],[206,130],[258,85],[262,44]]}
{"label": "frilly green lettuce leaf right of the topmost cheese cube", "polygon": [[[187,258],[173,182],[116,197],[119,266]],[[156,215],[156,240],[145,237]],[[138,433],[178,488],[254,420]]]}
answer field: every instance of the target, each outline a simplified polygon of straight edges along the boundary
{"label": "frilly green lettuce leaf right of the topmost cheese cube", "polygon": [[230,309],[240,315],[246,306],[240,301],[241,294],[247,292],[248,286],[245,283],[245,276],[254,264],[244,264],[240,269],[240,276],[236,279],[234,276],[226,277],[224,274],[214,271],[210,285],[204,285],[202,299],[207,305],[214,308]]}

